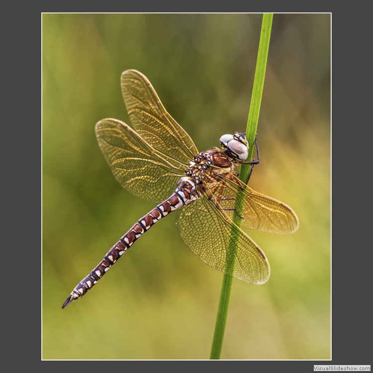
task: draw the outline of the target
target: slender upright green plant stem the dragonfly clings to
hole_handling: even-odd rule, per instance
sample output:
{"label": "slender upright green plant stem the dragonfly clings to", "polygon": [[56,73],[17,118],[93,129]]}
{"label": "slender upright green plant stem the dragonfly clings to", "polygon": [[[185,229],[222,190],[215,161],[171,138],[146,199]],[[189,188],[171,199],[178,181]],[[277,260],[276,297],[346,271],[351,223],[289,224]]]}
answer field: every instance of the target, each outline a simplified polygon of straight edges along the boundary
{"label": "slender upright green plant stem the dragonfly clings to", "polygon": [[[253,151],[255,147],[254,146],[255,135],[257,133],[257,128],[258,128],[259,112],[260,112],[263,87],[264,87],[264,78],[266,75],[268,50],[269,50],[270,38],[271,38],[272,19],[273,19],[272,13],[263,14],[262,29],[261,29],[261,34],[260,34],[259,48],[258,48],[257,65],[255,69],[255,77],[254,77],[254,84],[253,84],[253,93],[251,95],[250,110],[249,110],[249,116],[248,116],[247,127],[246,127],[246,138],[249,142],[248,159],[253,158]],[[250,168],[251,168],[250,165],[241,166],[240,180],[243,183],[246,183],[247,178],[249,177]],[[241,194],[237,195],[236,204],[235,204],[235,209],[237,211],[237,214],[235,214],[233,218],[233,222],[236,224],[238,228],[240,227],[241,220],[242,220],[239,218],[239,215],[241,215],[242,210],[243,210],[243,199],[242,198],[243,197]],[[237,244],[233,238],[231,239],[229,243],[229,247],[232,248],[234,251],[237,250]],[[235,256],[232,256],[231,258],[227,258],[227,269],[231,269],[229,273],[233,272],[234,257]],[[216,317],[215,331],[214,331],[214,337],[212,341],[210,359],[220,359],[221,349],[223,345],[225,324],[226,324],[227,314],[228,314],[229,299],[230,299],[230,293],[231,293],[232,281],[233,281],[233,277],[229,273],[225,273],[223,277],[223,283],[222,283],[221,292],[220,292],[220,300],[219,300],[218,312],[217,312],[217,317]]]}

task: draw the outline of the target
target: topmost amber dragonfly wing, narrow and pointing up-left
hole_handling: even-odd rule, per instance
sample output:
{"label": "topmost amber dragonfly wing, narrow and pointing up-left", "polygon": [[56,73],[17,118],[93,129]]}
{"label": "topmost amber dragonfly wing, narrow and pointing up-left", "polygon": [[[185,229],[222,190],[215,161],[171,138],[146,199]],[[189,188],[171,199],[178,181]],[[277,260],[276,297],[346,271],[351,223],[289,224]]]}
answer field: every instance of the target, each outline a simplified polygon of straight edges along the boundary
{"label": "topmost amber dragonfly wing, narrow and pointing up-left", "polygon": [[166,111],[145,75],[126,70],[121,88],[133,128],[148,144],[182,163],[198,154],[187,132]]}

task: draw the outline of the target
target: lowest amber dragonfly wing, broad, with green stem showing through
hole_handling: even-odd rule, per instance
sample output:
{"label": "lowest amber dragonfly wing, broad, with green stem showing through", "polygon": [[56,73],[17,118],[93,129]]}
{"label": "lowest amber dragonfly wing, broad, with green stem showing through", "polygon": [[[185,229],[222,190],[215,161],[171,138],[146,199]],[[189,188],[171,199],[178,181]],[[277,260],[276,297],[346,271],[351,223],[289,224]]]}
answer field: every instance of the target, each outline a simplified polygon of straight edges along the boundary
{"label": "lowest amber dragonfly wing, broad, with green stem showing through", "polygon": [[212,268],[250,283],[269,279],[263,251],[207,197],[178,210],[176,224],[189,249]]}

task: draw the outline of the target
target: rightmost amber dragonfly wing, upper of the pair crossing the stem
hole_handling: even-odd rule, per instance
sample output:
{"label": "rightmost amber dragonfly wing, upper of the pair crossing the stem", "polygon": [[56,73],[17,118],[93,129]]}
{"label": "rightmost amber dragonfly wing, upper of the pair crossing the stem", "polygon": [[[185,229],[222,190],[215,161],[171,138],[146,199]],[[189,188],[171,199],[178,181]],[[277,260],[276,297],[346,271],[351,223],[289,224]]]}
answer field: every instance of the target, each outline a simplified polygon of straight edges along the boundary
{"label": "rightmost amber dragonfly wing, upper of the pair crossing the stem", "polygon": [[[215,177],[219,178],[219,176]],[[234,208],[237,193],[243,195],[244,209],[241,214],[243,227],[271,233],[292,233],[297,230],[298,217],[286,204],[247,186],[243,190],[242,182],[232,174],[229,178],[223,178],[220,184],[221,187],[212,192],[213,199],[218,208],[223,209],[230,219],[233,219],[233,214],[236,213]],[[206,188],[209,187],[206,185]]]}

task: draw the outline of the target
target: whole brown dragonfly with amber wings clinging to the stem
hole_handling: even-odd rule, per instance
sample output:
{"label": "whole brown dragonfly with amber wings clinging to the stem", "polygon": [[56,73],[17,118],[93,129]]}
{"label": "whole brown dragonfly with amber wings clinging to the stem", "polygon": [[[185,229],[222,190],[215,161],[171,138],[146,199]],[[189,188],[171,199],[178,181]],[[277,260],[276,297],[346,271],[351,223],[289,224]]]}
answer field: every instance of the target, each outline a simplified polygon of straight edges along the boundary
{"label": "whole brown dragonfly with amber wings clinging to the stem", "polygon": [[[235,166],[249,164],[252,172],[259,163],[257,143],[258,160],[247,161],[249,144],[240,132],[222,135],[220,148],[199,152],[142,73],[124,71],[121,91],[133,128],[117,119],[100,120],[95,126],[99,147],[122,187],[160,203],[119,238],[62,308],[85,295],[145,232],[173,211],[183,241],[200,260],[239,280],[266,282],[270,266],[264,252],[234,221],[251,229],[291,233],[298,218],[286,204],[238,179]],[[240,211],[235,207],[237,195]]]}

